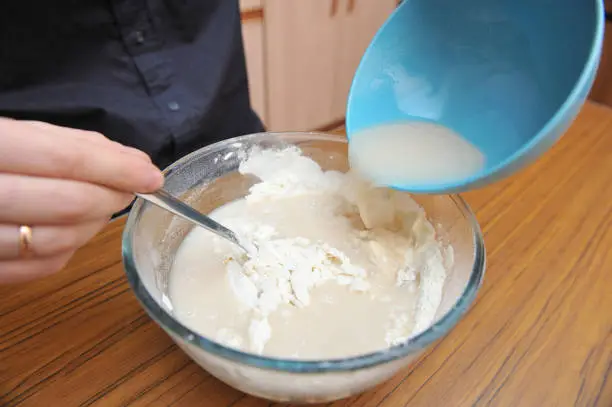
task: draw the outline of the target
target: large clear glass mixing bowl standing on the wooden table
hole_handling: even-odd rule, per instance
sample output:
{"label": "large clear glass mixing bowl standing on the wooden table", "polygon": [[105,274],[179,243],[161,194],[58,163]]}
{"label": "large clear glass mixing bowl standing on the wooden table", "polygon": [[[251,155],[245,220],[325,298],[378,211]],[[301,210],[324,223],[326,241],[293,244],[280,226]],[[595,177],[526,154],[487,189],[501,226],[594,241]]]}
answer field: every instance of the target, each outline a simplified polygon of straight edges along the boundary
{"label": "large clear glass mixing bowl standing on the wooden table", "polygon": [[[166,170],[166,189],[204,213],[241,198],[254,183],[237,171],[252,146],[298,146],[324,170],[345,172],[344,137],[317,133],[259,133],[204,147]],[[485,249],[476,218],[459,196],[419,195],[438,239],[452,245],[435,323],[404,343],[375,353],[333,360],[290,360],[258,356],[201,336],[172,315],[168,275],[187,222],[137,200],[123,234],[123,262],[129,283],[148,314],[195,362],[218,379],[278,402],[319,403],[363,392],[392,377],[457,324],[473,302],[485,270]]]}

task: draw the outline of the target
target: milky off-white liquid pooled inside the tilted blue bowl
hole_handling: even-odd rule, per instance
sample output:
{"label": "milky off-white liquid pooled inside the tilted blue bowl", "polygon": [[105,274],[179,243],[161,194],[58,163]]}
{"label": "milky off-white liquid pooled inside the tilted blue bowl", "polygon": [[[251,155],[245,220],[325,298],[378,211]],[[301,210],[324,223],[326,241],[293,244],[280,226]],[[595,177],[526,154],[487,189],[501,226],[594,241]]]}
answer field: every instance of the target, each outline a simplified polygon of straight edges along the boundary
{"label": "milky off-white liquid pooled inside the tilted blue bowl", "polygon": [[351,168],[378,185],[454,182],[482,170],[485,157],[449,128],[427,122],[382,124],[351,135]]}

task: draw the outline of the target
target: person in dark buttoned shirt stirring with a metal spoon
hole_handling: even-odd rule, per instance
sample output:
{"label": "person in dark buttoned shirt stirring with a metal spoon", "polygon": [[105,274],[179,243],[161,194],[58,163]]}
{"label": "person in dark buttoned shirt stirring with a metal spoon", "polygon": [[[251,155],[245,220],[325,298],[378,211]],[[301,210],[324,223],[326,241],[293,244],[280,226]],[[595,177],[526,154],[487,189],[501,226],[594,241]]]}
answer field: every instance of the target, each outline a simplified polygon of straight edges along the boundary
{"label": "person in dark buttoned shirt stirring with a metal spoon", "polygon": [[62,269],[163,168],[263,130],[237,0],[10,0],[0,13],[0,282]]}

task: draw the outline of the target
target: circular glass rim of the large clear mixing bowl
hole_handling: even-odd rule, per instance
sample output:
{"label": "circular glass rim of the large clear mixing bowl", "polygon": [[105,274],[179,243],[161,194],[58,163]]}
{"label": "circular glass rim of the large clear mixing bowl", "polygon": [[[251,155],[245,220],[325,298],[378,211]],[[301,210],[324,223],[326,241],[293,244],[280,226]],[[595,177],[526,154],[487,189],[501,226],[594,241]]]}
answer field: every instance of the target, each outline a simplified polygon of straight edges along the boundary
{"label": "circular glass rim of the large clear mixing bowl", "polygon": [[[254,133],[231,139],[223,140],[214,144],[210,144],[200,148],[193,153],[179,159],[168,168],[164,173],[169,174],[174,170],[182,167],[191,160],[192,157],[200,155],[203,152],[213,153],[231,145],[233,143],[242,143],[252,141],[258,138],[276,137],[281,139],[307,136],[306,141],[332,141],[346,144],[345,138],[333,134],[317,133],[317,132],[262,132]],[[472,305],[476,294],[482,284],[486,267],[486,254],[484,247],[484,239],[480,230],[476,217],[468,204],[459,195],[448,195],[454,202],[459,211],[465,216],[472,228],[472,237],[474,245],[474,262],[472,271],[468,279],[468,283],[462,294],[459,296],[455,304],[446,312],[435,324],[428,327],[423,332],[408,338],[406,341],[389,347],[384,350],[370,352],[363,355],[351,356],[347,358],[327,359],[327,360],[297,360],[284,359],[256,355],[234,348],[226,347],[212,339],[208,339],[197,332],[183,325],[175,319],[168,311],[166,311],[158,302],[153,299],[152,295],[144,286],[140,276],[136,270],[134,260],[132,241],[134,239],[135,226],[142,217],[144,210],[150,204],[142,199],[137,199],[130,211],[122,236],[122,257],[124,270],[130,286],[136,298],[141,303],[142,307],[167,333],[173,337],[179,337],[182,341],[195,346],[201,350],[209,352],[218,357],[231,360],[240,364],[245,364],[266,370],[275,370],[291,373],[318,373],[318,372],[347,372],[356,371],[364,368],[373,367],[404,358],[411,353],[420,352],[428,345],[445,336],[451,328],[460,320],[465,312]]]}

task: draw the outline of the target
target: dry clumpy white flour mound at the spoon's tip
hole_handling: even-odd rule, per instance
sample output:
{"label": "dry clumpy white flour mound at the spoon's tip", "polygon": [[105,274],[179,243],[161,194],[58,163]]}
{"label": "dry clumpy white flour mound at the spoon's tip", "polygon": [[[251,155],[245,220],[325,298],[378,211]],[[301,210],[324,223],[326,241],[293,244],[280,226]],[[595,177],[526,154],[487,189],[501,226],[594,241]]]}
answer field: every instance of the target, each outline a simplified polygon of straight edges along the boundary
{"label": "dry clumpy white flour mound at the spoon's tip", "polygon": [[236,297],[254,312],[249,326],[251,349],[262,353],[270,339],[268,315],[281,304],[306,307],[310,291],[327,281],[349,286],[353,291],[367,291],[367,273],[351,264],[344,253],[325,243],[305,238],[254,239],[259,250],[255,257],[240,263],[227,259],[227,272]]}

